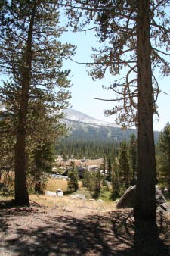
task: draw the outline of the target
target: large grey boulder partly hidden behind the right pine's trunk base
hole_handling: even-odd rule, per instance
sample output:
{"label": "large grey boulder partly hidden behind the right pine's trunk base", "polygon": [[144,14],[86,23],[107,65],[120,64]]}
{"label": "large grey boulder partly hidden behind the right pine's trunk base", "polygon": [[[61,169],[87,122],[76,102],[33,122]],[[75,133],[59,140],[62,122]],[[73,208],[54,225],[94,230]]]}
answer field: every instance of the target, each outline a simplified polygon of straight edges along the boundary
{"label": "large grey boulder partly hidden behind the right pine's trunk base", "polygon": [[[134,208],[134,193],[136,186],[130,186],[122,197],[117,201],[116,208]],[[168,205],[164,195],[161,190],[156,186],[156,206],[161,207],[165,210],[165,205]]]}

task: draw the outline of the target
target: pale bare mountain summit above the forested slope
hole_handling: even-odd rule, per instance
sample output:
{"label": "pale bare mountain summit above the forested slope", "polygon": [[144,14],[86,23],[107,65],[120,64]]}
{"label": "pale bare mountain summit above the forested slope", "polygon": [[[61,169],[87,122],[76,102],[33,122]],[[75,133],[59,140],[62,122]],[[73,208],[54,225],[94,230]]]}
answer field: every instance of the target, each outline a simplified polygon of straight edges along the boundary
{"label": "pale bare mountain summit above the forested slope", "polygon": [[76,122],[88,123],[94,126],[107,126],[107,127],[120,127],[116,123],[109,123],[101,120],[97,120],[94,117],[88,116],[80,111],[76,111],[73,108],[67,108],[65,110],[66,120],[72,120]]}

